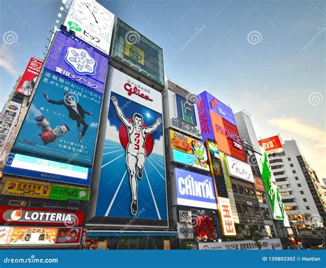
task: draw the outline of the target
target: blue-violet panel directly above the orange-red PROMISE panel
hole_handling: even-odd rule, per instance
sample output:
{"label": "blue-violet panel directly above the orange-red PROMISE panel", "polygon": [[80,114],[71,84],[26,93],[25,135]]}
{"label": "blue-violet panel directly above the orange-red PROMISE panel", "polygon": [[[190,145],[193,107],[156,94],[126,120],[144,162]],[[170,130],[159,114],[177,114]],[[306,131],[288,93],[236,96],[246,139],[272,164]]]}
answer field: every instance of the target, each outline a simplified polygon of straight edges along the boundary
{"label": "blue-violet panel directly above the orange-red PROMISE panel", "polygon": [[224,120],[237,126],[237,123],[235,122],[235,115],[233,115],[232,109],[226,104],[210,95],[210,93],[207,91],[200,93],[198,98],[199,100],[204,100],[204,102],[206,102],[208,111],[213,111],[217,115],[221,116],[221,118]]}

